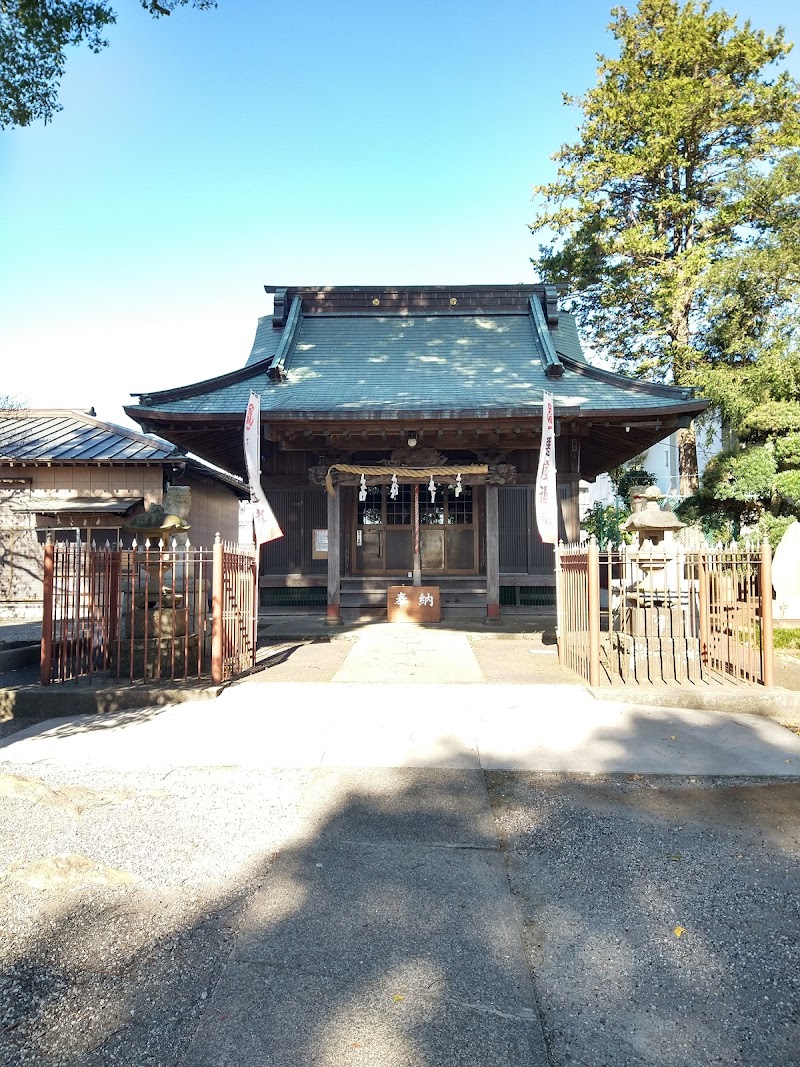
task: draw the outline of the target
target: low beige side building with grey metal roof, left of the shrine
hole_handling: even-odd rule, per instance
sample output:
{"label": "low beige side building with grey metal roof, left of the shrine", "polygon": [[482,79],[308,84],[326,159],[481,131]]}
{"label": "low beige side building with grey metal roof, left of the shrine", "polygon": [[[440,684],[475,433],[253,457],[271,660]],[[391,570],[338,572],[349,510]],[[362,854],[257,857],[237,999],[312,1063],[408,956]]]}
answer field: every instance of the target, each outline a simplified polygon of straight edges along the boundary
{"label": "low beige side building with grey metal roof, left of the shrine", "polygon": [[[0,611],[41,612],[46,538],[129,544],[131,521],[169,504],[178,484],[193,498],[198,545],[210,545],[217,530],[238,540],[241,479],[92,409],[0,411]],[[139,528],[140,539],[157,532]],[[164,531],[175,534],[174,524]]]}

